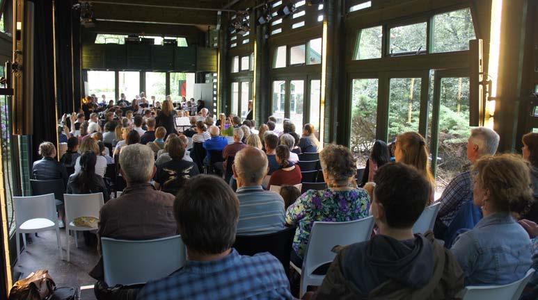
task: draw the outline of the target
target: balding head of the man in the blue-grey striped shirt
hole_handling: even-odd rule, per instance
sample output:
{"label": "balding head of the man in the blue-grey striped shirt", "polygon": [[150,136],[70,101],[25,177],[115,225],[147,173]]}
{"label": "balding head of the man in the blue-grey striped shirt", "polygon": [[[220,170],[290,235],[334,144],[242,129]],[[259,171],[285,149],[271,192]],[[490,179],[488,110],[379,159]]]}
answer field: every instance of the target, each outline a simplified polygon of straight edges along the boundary
{"label": "balding head of the man in the blue-grey striped shirt", "polygon": [[267,165],[267,155],[248,146],[235,154],[234,174],[244,185],[261,185],[267,175]]}

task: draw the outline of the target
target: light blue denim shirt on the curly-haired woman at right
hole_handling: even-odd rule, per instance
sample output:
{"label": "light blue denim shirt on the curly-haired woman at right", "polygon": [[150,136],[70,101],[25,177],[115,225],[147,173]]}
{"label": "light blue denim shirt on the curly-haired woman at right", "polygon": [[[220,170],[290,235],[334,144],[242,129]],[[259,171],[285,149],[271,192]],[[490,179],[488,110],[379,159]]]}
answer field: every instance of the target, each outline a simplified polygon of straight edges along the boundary
{"label": "light blue denim shirt on the curly-haired woman at right", "polygon": [[466,285],[505,285],[530,269],[532,244],[528,233],[509,213],[484,217],[470,231],[459,235],[451,249]]}

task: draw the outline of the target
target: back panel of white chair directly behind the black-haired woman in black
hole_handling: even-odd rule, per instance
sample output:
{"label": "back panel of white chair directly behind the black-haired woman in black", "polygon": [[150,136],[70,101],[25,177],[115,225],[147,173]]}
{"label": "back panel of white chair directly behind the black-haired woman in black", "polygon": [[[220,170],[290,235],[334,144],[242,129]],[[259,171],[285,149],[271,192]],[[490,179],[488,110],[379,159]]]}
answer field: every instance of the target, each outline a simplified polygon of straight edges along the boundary
{"label": "back panel of white chair directly behind the black-haired woman in black", "polygon": [[[99,211],[104,205],[103,194],[63,194],[65,200],[65,226],[70,226],[77,217],[95,217],[99,219]],[[75,226],[76,227],[76,226]],[[86,228],[85,230],[88,230]]]}

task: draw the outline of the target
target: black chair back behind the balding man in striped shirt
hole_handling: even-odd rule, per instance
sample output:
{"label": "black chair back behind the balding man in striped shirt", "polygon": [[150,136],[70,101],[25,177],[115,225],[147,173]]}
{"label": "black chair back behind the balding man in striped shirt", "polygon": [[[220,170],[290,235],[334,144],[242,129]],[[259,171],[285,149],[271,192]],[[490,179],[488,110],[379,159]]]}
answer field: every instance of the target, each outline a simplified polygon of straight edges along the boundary
{"label": "black chair back behind the balding man in striped shirt", "polygon": [[239,254],[248,256],[262,252],[271,253],[280,260],[288,275],[295,231],[295,227],[289,227],[264,235],[236,235],[233,247]]}

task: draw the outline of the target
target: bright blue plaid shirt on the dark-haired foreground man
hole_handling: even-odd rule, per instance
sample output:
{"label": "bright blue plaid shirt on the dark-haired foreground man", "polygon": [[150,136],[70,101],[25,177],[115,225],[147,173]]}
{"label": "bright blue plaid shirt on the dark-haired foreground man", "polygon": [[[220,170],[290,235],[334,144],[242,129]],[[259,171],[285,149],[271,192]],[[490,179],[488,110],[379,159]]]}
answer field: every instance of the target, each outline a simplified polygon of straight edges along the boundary
{"label": "bright blue plaid shirt on the dark-haired foreground man", "polygon": [[187,261],[166,278],[147,283],[138,300],[293,299],[280,261],[269,253],[241,256],[235,249],[221,260]]}

